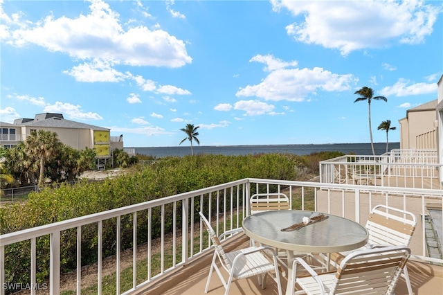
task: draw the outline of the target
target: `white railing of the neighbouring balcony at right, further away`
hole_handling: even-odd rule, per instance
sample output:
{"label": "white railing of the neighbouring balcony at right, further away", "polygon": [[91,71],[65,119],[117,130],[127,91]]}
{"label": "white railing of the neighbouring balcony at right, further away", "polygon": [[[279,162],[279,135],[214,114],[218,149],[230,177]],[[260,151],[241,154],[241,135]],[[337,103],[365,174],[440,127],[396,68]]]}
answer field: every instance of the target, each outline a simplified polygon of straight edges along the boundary
{"label": "white railing of the neighbouring balcony at right, further away", "polygon": [[442,189],[436,150],[392,150],[381,156],[345,155],[320,162],[320,182]]}

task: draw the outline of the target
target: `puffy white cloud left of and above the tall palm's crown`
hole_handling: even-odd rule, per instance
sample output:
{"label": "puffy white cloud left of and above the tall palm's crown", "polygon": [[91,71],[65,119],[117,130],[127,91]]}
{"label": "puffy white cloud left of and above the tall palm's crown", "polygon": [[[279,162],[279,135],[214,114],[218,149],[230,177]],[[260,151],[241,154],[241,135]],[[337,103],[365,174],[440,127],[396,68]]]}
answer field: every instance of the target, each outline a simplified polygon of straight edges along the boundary
{"label": "puffy white cloud left of and above the tall palm's crown", "polygon": [[[357,80],[351,74],[340,75],[322,68],[285,69],[296,62],[282,62],[271,55],[256,55],[251,62],[264,62],[265,70],[271,71],[260,84],[241,88],[236,96],[256,96],[265,100],[304,101],[316,91],[347,91]],[[272,70],[273,69],[273,70]]]}

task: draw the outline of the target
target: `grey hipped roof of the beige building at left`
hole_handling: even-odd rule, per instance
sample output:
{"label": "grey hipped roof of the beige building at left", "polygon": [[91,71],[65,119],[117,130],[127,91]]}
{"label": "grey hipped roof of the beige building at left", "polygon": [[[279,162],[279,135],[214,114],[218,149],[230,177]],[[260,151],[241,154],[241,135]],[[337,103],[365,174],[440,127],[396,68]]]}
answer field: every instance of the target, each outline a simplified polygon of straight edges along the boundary
{"label": "grey hipped roof of the beige building at left", "polygon": [[53,127],[53,128],[78,128],[78,129],[93,129],[101,131],[109,131],[111,129],[98,127],[94,125],[79,123],[63,118],[62,114],[43,113],[35,115],[34,120],[17,119],[14,121],[15,125],[32,126],[32,127]]}

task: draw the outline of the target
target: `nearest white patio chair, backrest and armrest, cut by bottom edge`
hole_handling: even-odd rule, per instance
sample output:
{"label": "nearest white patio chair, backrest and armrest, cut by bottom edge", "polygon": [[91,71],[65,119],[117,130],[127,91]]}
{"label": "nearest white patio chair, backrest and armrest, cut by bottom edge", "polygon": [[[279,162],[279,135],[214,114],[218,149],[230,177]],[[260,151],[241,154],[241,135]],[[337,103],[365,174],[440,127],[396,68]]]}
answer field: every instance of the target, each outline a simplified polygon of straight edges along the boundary
{"label": "nearest white patio chair, backrest and armrest, cut by bottom edge", "polygon": [[[293,259],[293,294],[395,294],[410,249],[390,246],[354,251],[346,256],[335,273],[317,274],[305,260]],[[297,264],[310,276],[297,278]],[[298,285],[301,290],[295,291]]]}

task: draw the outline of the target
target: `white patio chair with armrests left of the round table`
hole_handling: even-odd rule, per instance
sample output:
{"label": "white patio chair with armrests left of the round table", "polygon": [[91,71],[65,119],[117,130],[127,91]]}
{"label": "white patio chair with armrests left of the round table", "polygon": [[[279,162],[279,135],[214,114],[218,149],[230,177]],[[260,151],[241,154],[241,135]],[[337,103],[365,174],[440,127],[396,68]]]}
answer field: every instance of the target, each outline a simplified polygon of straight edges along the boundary
{"label": "white patio chair with armrests left of the round table", "polygon": [[[221,283],[223,283],[225,287],[224,294],[228,294],[230,284],[233,281],[233,278],[249,278],[251,276],[258,276],[258,283],[262,286],[262,289],[266,287],[266,276],[269,274],[275,280],[278,287],[278,294],[282,295],[282,287],[280,284],[280,275],[278,273],[278,265],[277,265],[277,256],[275,256],[275,251],[271,247],[248,247],[246,249],[240,249],[232,252],[226,253],[221,246],[220,240],[223,239],[226,235],[232,235],[235,232],[242,231],[242,229],[236,229],[232,231],[226,231],[222,233],[219,237],[215,234],[212,226],[206,219],[205,215],[199,212],[201,220],[206,226],[206,230],[209,233],[210,239],[213,241],[215,252],[213,257],[213,262],[210,265],[210,271],[208,280],[206,282],[205,293],[208,293],[210,278],[213,274],[213,271],[217,272]],[[273,263],[269,261],[269,259],[264,256],[262,251],[266,250],[267,253],[271,253]],[[221,266],[228,272],[229,278],[228,282],[224,279],[223,275],[219,267],[217,267],[217,258],[221,264]],[[271,274],[274,272],[275,276]]]}

